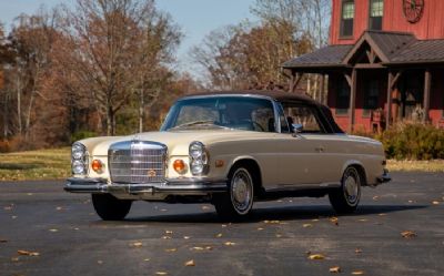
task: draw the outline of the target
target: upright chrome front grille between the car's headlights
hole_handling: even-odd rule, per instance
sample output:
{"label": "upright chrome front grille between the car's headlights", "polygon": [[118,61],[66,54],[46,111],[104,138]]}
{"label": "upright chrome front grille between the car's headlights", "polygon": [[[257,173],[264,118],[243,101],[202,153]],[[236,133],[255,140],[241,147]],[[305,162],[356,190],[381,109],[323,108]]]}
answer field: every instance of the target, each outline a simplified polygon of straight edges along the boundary
{"label": "upright chrome front grille between the car's headlights", "polygon": [[110,146],[108,164],[113,183],[163,182],[165,178],[167,146],[147,141],[119,142]]}

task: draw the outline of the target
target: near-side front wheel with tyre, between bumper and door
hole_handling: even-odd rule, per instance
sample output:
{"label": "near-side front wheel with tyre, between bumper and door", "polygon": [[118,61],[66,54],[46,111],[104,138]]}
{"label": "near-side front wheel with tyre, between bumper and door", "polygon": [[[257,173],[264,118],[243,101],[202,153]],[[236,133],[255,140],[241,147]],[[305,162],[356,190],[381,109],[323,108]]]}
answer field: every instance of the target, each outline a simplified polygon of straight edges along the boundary
{"label": "near-side front wheel with tyre, between bumper and door", "polygon": [[240,219],[253,207],[253,177],[245,167],[236,167],[229,175],[229,192],[214,195],[213,204],[222,219]]}

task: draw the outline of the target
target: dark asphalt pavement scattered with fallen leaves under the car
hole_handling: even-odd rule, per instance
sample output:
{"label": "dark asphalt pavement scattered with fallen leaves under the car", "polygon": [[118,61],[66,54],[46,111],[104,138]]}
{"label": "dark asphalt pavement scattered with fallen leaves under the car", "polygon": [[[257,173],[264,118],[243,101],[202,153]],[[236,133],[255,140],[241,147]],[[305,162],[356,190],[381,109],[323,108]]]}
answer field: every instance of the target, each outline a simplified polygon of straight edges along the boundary
{"label": "dark asphalt pavement scattered with fallen leaves under the car", "polygon": [[0,275],[444,275],[444,174],[392,176],[354,215],[284,198],[233,224],[209,204],[147,202],[103,222],[62,181],[0,182]]}

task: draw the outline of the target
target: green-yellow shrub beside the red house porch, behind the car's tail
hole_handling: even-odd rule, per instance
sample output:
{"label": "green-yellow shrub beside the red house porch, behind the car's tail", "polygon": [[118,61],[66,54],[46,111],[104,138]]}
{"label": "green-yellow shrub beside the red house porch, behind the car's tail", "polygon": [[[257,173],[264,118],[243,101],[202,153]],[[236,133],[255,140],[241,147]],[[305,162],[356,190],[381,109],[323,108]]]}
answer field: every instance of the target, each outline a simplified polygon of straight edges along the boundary
{"label": "green-yellow shrub beside the red house porch, behind the car's tail", "polygon": [[444,130],[428,124],[407,123],[376,135],[384,144],[387,159],[444,159]]}

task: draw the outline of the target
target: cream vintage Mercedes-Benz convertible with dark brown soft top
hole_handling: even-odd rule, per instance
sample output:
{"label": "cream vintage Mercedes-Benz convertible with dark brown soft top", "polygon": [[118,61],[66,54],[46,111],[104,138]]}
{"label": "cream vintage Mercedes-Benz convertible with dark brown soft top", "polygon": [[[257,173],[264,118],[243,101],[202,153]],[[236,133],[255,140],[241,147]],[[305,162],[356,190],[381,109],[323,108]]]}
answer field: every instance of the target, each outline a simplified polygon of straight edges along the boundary
{"label": "cream vintage Mercedes-Benz convertible with dark brown soft top", "polygon": [[92,194],[107,221],[133,201],[210,202],[235,219],[255,201],[329,195],[352,213],[363,186],[391,180],[380,142],[345,134],[307,96],[275,91],[184,96],[159,132],[78,141],[71,164],[64,190]]}

